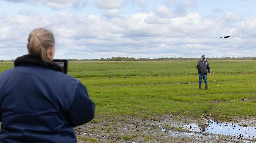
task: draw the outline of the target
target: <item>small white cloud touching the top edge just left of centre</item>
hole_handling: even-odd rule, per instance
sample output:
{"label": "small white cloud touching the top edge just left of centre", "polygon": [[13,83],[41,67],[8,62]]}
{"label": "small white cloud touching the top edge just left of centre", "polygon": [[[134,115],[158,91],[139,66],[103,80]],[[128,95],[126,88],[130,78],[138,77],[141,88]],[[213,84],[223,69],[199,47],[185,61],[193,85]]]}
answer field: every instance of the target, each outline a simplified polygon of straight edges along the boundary
{"label": "small white cloud touching the top edge just left of centre", "polygon": [[124,0],[94,0],[94,3],[103,9],[122,8],[125,4]]}

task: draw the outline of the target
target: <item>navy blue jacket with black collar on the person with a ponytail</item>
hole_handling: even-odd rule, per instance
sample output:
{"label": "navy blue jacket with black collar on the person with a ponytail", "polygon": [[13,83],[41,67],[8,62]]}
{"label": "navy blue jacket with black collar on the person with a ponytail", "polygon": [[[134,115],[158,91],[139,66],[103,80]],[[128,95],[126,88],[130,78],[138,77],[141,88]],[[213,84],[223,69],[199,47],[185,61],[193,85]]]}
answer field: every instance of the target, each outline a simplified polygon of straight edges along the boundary
{"label": "navy blue jacket with black collar on the person with a ponytail", "polygon": [[25,55],[0,74],[0,142],[76,142],[73,127],[94,117],[82,83],[56,64]]}

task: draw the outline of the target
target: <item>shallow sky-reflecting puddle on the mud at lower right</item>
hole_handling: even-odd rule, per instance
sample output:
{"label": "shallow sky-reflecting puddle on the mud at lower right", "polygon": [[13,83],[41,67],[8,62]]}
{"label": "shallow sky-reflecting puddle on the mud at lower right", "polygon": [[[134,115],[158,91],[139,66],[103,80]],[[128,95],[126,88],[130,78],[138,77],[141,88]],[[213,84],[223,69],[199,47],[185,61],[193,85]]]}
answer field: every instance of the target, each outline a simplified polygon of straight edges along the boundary
{"label": "shallow sky-reflecting puddle on the mud at lower right", "polygon": [[[143,131],[143,133],[148,133],[153,130],[157,131],[157,133],[168,134],[170,136],[187,136],[191,138],[202,139],[202,141],[212,141],[212,140],[226,140],[226,141],[242,141],[242,142],[251,142],[256,141],[256,127],[252,126],[241,126],[237,124],[226,124],[226,123],[218,123],[214,120],[210,120],[209,125],[206,127],[201,127],[197,124],[186,124],[186,125],[174,125],[175,127],[182,127],[187,129],[187,131],[172,131],[168,130],[161,126],[161,123],[153,123],[151,126],[158,126],[157,128],[152,128],[148,126],[136,126],[133,124],[126,125],[125,129],[128,128],[145,128],[149,130]],[[160,130],[160,131],[159,131]],[[152,132],[152,133],[153,133]],[[226,135],[226,136],[223,136]],[[224,138],[223,138],[224,137]],[[139,141],[140,142],[140,141]],[[134,143],[134,142],[132,142]]]}

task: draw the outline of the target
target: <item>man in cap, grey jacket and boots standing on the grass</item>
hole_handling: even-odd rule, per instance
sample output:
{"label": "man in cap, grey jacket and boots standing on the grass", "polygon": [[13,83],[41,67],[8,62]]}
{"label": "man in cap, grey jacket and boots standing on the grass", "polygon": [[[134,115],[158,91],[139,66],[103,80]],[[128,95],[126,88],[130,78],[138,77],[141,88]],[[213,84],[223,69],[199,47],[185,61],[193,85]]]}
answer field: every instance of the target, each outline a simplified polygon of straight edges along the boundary
{"label": "man in cap, grey jacket and boots standing on the grass", "polygon": [[201,57],[202,57],[201,60],[199,60],[197,62],[197,66],[196,66],[196,69],[198,69],[198,76],[199,76],[199,88],[198,89],[201,89],[202,78],[203,78],[204,79],[205,90],[208,90],[207,70],[208,70],[210,76],[212,76],[211,69],[210,69],[208,61],[205,59],[205,55],[202,55]]}

